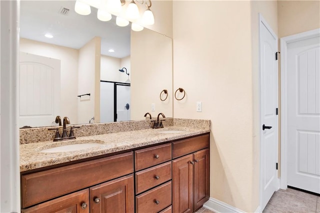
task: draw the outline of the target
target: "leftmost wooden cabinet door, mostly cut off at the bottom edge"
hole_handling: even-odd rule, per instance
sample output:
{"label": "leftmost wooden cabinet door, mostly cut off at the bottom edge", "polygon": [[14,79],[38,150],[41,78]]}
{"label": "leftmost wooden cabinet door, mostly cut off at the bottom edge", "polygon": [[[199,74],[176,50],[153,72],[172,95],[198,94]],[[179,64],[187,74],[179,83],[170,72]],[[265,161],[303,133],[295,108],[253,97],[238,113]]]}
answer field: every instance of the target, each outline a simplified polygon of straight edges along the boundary
{"label": "leftmost wooden cabinet door, mostly cut off at the bottom edge", "polygon": [[83,189],[30,208],[22,209],[22,213],[89,213],[89,191]]}

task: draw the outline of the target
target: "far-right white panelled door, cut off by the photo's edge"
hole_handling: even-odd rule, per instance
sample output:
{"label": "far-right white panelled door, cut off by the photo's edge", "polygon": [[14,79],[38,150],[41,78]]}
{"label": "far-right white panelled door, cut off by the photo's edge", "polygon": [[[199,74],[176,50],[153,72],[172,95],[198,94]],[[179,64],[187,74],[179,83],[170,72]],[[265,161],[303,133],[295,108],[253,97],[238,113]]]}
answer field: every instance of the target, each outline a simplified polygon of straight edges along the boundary
{"label": "far-right white panelled door, cut off by the photo's edge", "polygon": [[287,185],[320,193],[320,36],[287,44]]}

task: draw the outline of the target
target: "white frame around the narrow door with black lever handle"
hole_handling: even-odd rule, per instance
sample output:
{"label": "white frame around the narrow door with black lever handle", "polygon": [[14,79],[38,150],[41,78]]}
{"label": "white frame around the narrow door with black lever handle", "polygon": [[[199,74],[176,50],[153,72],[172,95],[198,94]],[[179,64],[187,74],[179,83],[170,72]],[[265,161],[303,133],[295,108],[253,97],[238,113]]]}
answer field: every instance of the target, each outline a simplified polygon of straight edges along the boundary
{"label": "white frame around the narrow door with black lever handle", "polygon": [[[272,28],[270,27],[270,25],[266,22],[266,20],[263,18],[262,14],[259,13],[259,35],[258,35],[258,42],[259,42],[259,74],[258,74],[258,86],[259,86],[259,146],[260,146],[260,150],[259,150],[259,160],[260,160],[260,163],[259,163],[259,166],[260,166],[260,169],[259,169],[259,207],[258,208],[262,208],[262,159],[261,159],[261,146],[262,146],[262,95],[261,95],[261,85],[262,85],[262,75],[261,75],[261,71],[262,71],[262,64],[261,64],[261,26],[264,25],[266,27],[266,29],[272,34],[272,36],[276,39],[276,41],[278,40],[278,37],[277,35],[273,32]],[[276,47],[277,49],[278,47]],[[276,50],[278,51],[278,50]],[[276,72],[278,73],[278,65],[276,66]],[[279,82],[279,79],[278,79],[278,74],[276,75],[276,90],[278,90],[278,82]],[[278,105],[278,92],[277,92],[277,105]],[[278,119],[277,119],[278,120]],[[278,131],[278,125],[277,125],[277,131]],[[279,131],[277,132],[277,135],[279,134]],[[276,146],[276,154],[278,155],[278,143],[279,143],[279,140],[277,138],[277,146]],[[279,179],[277,178],[277,185],[276,185],[276,188],[278,189],[279,188]],[[263,209],[260,209],[261,211]]]}

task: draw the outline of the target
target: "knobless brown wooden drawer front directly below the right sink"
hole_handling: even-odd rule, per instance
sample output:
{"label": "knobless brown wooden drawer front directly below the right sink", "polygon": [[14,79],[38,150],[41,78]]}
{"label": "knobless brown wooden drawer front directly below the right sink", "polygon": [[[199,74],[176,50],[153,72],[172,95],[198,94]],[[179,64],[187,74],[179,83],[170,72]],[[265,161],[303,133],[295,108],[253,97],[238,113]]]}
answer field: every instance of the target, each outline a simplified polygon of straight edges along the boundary
{"label": "knobless brown wooden drawer front directly below the right sink", "polygon": [[209,134],[203,134],[172,142],[172,158],[209,147]]}

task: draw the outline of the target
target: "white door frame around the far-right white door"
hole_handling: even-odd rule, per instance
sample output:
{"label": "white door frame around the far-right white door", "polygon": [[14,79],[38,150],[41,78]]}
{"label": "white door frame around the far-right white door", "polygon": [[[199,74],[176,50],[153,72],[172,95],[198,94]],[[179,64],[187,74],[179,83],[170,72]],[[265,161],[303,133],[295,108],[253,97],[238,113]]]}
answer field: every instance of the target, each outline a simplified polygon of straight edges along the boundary
{"label": "white door frame around the far-right white door", "polygon": [[293,34],[280,38],[280,75],[281,75],[281,148],[280,148],[280,188],[287,188],[287,45],[291,42],[304,40],[307,38],[312,38],[320,35],[320,28],[309,30],[306,32],[301,32],[298,34]]}

